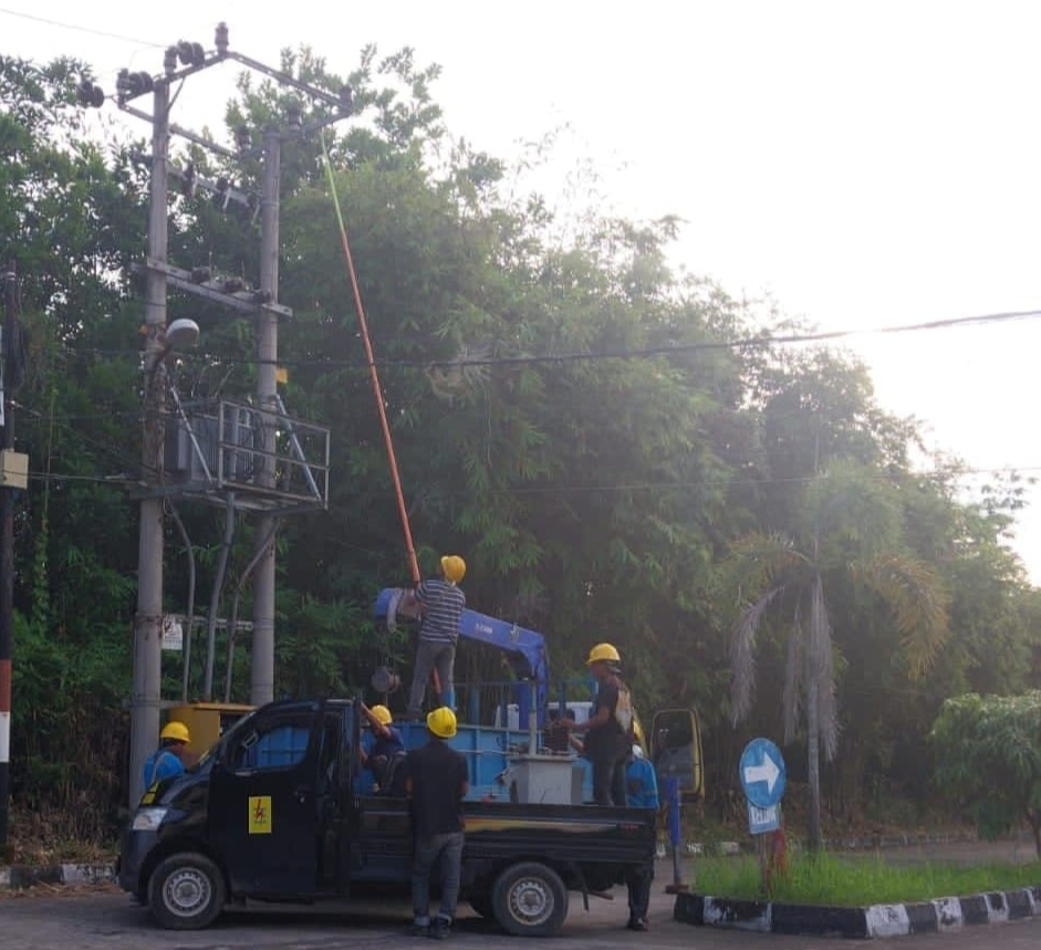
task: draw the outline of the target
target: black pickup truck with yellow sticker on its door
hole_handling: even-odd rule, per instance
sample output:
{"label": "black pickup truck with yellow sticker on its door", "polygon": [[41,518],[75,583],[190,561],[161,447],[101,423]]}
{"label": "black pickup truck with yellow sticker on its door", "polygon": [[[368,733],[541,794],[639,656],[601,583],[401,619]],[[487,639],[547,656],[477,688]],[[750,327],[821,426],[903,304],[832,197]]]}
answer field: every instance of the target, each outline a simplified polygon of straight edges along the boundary
{"label": "black pickup truck with yellow sticker on its door", "polygon": [[[181,930],[247,899],[407,895],[408,802],[358,794],[360,719],[350,700],[281,701],[236,723],[198,765],[145,793],[121,887]],[[587,900],[654,860],[645,810],[475,801],[464,812],[461,897],[510,933],[555,933],[569,891]]]}

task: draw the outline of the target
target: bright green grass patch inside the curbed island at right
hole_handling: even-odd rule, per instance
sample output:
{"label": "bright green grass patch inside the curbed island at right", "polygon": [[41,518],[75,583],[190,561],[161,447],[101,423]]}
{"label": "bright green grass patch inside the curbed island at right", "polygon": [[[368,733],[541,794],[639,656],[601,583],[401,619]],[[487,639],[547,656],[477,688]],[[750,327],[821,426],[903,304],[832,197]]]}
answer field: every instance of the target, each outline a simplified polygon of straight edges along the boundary
{"label": "bright green grass patch inside the curbed island at right", "polygon": [[894,866],[881,857],[797,855],[787,874],[774,873],[769,894],[754,857],[707,857],[696,863],[694,890],[710,897],[827,907],[912,904],[1041,885],[1041,863]]}

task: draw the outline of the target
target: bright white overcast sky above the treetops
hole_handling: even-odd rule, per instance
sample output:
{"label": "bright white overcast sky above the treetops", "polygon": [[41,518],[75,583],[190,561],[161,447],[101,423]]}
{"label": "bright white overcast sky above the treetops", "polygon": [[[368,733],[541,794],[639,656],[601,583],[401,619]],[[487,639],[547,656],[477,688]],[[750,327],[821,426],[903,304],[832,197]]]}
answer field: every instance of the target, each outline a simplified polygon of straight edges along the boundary
{"label": "bright white overcast sky above the treetops", "polygon": [[[537,180],[558,207],[593,189],[633,219],[678,216],[677,267],[733,296],[821,330],[1041,307],[1039,3],[396,0],[287,4],[278,20],[260,6],[0,0],[0,53],[74,54],[112,90],[121,66],[159,72],[171,42],[210,49],[220,20],[233,50],[272,65],[308,44],[346,74],[367,43],[408,45],[443,67],[454,135],[510,160],[555,133]],[[220,127],[233,76],[186,83],[174,121]],[[930,450],[981,479],[1041,476],[1041,317],[843,345]],[[1041,584],[1041,491],[1029,499],[1012,544]]]}

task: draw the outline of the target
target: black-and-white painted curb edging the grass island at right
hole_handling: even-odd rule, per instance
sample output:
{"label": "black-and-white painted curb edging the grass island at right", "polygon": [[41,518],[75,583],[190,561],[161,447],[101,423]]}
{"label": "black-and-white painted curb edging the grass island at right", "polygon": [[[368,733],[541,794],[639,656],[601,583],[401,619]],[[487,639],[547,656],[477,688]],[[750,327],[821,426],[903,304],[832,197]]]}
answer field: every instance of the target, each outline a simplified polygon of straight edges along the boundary
{"label": "black-and-white painted curb edging the grass island at right", "polygon": [[811,907],[678,894],[673,916],[680,922],[699,927],[870,940],[910,933],[946,933],[978,923],[1038,917],[1041,916],[1041,887],[873,907]]}

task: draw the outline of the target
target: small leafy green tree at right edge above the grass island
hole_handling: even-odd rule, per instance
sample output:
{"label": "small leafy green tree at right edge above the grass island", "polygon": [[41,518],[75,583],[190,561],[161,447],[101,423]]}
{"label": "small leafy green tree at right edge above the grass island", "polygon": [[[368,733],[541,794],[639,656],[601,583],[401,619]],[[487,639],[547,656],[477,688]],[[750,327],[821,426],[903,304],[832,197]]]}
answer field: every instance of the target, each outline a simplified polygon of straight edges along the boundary
{"label": "small leafy green tree at right edge above the grass island", "polygon": [[936,783],[996,838],[1026,821],[1041,858],[1041,691],[948,699],[933,724]]}

